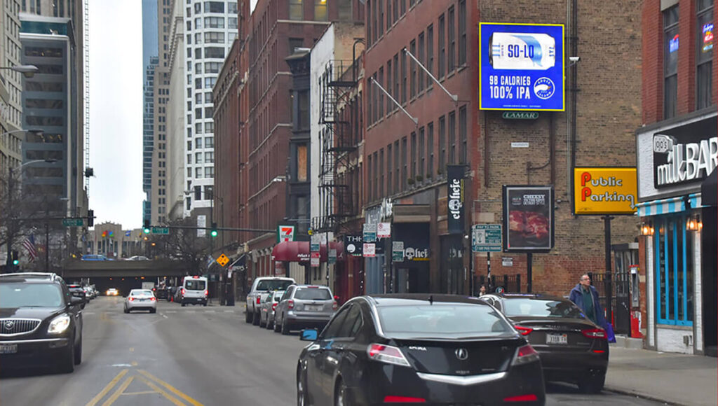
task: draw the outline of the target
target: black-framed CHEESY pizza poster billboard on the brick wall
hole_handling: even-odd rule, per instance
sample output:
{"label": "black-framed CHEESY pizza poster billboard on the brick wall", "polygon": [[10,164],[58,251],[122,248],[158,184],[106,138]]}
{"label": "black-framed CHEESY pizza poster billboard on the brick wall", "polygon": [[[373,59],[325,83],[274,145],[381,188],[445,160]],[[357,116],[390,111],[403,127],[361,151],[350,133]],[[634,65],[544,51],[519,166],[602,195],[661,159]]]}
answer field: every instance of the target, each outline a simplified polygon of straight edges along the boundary
{"label": "black-framed CHEESY pizza poster billboard on the brick wall", "polygon": [[503,250],[548,252],[554,247],[554,187],[504,185]]}

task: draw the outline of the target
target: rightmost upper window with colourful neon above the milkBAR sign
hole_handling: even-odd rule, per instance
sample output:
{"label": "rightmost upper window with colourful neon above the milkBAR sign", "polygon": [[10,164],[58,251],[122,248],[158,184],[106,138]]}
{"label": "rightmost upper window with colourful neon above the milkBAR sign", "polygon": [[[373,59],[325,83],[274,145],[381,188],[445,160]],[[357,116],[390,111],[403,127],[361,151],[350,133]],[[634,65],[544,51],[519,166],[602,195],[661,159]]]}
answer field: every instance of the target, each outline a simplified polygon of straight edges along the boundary
{"label": "rightmost upper window with colourful neon above the milkBAR sign", "polygon": [[696,18],[696,108],[706,108],[713,95],[713,0],[698,0]]}

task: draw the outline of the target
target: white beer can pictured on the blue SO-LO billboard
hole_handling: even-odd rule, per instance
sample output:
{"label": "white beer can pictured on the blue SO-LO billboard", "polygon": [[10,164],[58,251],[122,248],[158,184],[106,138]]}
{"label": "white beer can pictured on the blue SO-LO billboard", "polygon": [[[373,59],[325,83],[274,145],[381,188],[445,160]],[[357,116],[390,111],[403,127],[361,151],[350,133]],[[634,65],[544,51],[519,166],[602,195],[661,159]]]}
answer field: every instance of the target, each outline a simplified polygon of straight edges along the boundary
{"label": "white beer can pictured on the blue SO-LO billboard", "polygon": [[556,39],[549,34],[494,32],[489,49],[494,69],[547,70],[556,65]]}

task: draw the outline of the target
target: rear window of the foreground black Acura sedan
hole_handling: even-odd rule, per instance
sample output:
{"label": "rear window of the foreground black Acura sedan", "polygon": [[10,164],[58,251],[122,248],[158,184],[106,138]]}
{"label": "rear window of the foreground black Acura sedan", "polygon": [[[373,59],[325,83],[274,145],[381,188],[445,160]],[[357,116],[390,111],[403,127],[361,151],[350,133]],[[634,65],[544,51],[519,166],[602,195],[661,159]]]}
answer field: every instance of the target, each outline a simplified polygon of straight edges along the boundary
{"label": "rear window of the foreground black Acura sedan", "polygon": [[378,307],[381,328],[388,334],[412,334],[416,338],[470,338],[512,331],[491,306],[434,303],[420,306]]}

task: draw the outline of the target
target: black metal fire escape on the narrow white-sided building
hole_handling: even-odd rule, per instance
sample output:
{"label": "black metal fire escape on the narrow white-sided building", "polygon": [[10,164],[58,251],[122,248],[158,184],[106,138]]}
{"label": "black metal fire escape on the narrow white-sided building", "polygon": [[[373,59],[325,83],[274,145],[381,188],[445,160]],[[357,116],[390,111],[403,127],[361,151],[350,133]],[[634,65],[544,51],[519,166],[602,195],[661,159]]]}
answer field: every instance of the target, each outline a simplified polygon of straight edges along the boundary
{"label": "black metal fire escape on the narrow white-sided building", "polygon": [[330,60],[320,77],[320,217],[318,231],[340,232],[357,214],[358,196],[353,187],[358,166],[359,137],[354,124],[360,112],[352,90],[356,88],[358,63]]}

